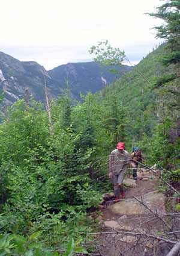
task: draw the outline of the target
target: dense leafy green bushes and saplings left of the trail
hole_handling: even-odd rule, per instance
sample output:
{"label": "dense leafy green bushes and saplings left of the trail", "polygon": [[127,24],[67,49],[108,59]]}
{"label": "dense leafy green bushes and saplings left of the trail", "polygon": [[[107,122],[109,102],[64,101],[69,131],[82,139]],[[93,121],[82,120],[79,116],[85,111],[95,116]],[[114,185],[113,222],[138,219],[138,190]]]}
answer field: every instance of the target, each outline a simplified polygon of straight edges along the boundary
{"label": "dense leafy green bushes and saplings left of the trail", "polygon": [[86,211],[100,201],[88,177],[94,151],[88,134],[83,142],[83,131],[72,128],[71,112],[68,123],[59,122],[65,120],[67,102],[55,105],[61,111],[53,116],[53,137],[46,111],[35,102],[28,110],[23,101],[16,102],[0,127],[1,230],[23,235],[44,230],[47,245],[64,247],[74,232],[75,238],[85,234],[86,224],[78,223],[86,222]]}

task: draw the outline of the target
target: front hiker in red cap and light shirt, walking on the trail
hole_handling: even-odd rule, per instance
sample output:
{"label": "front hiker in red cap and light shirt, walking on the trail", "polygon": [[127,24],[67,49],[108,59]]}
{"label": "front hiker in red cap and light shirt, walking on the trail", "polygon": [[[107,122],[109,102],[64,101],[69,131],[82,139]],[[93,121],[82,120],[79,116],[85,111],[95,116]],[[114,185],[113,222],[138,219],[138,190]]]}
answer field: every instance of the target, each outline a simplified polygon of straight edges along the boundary
{"label": "front hiker in red cap and light shirt, walking on the trail", "polygon": [[113,183],[116,200],[120,198],[120,194],[122,199],[125,198],[123,180],[129,163],[133,168],[136,168],[131,155],[124,150],[124,143],[118,142],[116,149],[111,152],[109,157],[109,178]]}

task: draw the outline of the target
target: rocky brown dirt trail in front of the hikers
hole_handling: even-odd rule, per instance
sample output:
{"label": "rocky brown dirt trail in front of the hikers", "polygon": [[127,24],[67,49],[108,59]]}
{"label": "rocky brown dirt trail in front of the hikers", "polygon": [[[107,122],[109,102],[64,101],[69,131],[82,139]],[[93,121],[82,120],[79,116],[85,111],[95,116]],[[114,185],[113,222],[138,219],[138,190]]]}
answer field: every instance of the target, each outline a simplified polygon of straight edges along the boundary
{"label": "rocky brown dirt trail in front of the hikers", "polygon": [[[163,193],[157,192],[157,180],[153,173],[148,172],[144,176],[144,180],[133,181],[133,187],[125,190],[125,200],[110,203],[102,209],[100,233],[93,237],[97,254],[166,255],[167,246],[161,246],[161,243],[152,239],[164,230],[164,223],[155,214],[162,216],[166,213],[165,198]],[[145,205],[139,204],[133,196],[142,196],[143,202],[152,212]],[[154,250],[157,254],[154,254]]]}

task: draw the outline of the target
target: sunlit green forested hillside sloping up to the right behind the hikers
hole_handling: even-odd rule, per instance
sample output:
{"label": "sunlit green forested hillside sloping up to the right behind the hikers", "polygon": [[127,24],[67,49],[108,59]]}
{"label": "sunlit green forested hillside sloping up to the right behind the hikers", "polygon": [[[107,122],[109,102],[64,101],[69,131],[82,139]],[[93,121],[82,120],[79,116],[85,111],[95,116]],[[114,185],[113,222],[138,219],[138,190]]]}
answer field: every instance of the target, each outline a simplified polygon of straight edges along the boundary
{"label": "sunlit green forested hillside sloping up to the right behind the hikers", "polygon": [[[152,135],[154,124],[157,123],[157,91],[153,88],[155,76],[161,76],[168,70],[158,62],[164,52],[164,45],[148,54],[128,75],[117,80],[109,87],[101,90],[97,97],[113,108],[114,120],[124,123],[128,146],[142,140],[143,134]],[[115,113],[116,108],[116,113]],[[122,117],[122,115],[124,117]],[[112,117],[113,117],[112,116]],[[122,138],[121,127],[116,127],[115,143]]]}

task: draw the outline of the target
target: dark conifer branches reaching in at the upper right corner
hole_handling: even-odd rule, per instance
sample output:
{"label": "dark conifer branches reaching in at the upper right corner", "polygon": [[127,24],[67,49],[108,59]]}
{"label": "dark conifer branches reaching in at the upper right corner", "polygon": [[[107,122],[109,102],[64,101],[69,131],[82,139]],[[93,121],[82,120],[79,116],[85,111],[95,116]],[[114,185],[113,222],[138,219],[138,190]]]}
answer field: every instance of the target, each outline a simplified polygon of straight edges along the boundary
{"label": "dark conifer branches reaching in at the upper right corner", "polygon": [[179,0],[164,0],[164,4],[157,7],[156,13],[149,14],[152,17],[160,18],[163,25],[155,27],[157,38],[166,42],[166,53],[161,56],[160,62],[164,66],[175,65],[172,73],[164,75],[156,80],[157,86],[176,80],[179,78],[180,63],[180,2]]}

